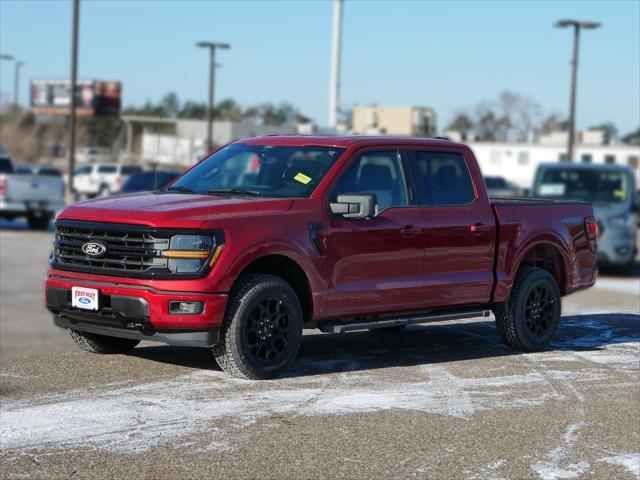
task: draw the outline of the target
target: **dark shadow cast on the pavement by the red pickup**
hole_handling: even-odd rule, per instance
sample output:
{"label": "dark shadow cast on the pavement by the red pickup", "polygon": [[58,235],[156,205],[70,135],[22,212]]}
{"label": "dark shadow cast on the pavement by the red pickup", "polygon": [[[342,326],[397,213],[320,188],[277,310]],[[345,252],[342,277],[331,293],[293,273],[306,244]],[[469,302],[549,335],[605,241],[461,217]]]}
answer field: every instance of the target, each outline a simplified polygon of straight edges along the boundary
{"label": "dark shadow cast on the pavement by the red pickup", "polygon": [[[603,313],[562,318],[552,351],[593,351],[640,342],[640,315]],[[183,367],[220,370],[208,349],[143,346],[131,355]],[[357,372],[520,355],[507,348],[493,321],[415,325],[395,334],[310,333],[282,378]]]}

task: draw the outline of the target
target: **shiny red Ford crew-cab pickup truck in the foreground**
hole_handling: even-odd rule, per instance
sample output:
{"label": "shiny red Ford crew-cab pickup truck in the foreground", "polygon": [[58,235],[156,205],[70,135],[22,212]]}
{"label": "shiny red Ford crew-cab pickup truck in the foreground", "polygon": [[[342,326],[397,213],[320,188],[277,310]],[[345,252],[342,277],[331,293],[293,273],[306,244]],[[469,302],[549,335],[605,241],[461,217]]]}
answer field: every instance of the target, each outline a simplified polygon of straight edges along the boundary
{"label": "shiny red Ford crew-cab pickup truck in the foreground", "polygon": [[231,143],[156,192],[69,206],[46,279],[83,349],[212,348],[270,378],[304,328],[393,333],[488,317],[535,351],[560,299],[593,285],[591,205],[492,198],[471,150],[440,139],[267,136]]}

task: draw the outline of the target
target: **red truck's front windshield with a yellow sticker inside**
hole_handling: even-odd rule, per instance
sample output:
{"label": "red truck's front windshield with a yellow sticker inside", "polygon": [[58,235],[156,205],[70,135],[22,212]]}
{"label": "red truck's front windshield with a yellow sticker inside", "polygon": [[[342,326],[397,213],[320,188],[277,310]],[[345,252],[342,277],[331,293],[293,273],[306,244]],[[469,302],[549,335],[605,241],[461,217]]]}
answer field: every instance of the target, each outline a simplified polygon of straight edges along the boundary
{"label": "red truck's front windshield with a yellow sticker inside", "polygon": [[169,191],[308,197],[344,148],[232,144],[176,180]]}

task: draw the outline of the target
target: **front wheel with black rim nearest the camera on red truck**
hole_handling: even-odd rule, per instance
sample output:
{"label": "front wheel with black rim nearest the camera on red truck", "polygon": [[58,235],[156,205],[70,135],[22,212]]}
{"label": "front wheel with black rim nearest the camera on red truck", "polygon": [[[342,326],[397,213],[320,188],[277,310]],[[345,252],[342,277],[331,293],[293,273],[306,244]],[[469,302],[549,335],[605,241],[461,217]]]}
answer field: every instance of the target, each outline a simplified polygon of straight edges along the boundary
{"label": "front wheel with black rim nearest the camera on red truck", "polygon": [[274,378],[298,353],[302,324],[300,301],[287,282],[273,275],[243,275],[229,295],[213,355],[234,377]]}

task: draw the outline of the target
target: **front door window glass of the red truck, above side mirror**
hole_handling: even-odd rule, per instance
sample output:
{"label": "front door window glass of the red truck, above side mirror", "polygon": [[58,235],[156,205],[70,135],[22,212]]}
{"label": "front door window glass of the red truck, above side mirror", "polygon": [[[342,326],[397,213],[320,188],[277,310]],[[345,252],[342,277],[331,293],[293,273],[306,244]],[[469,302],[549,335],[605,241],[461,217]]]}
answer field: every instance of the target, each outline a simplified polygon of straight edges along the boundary
{"label": "front door window glass of the red truck, above side mirror", "polygon": [[367,152],[356,158],[338,181],[334,196],[370,193],[378,200],[378,211],[407,205],[407,191],[398,152]]}

